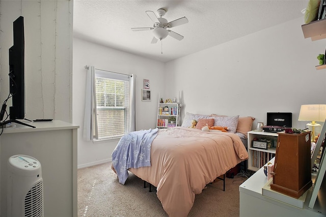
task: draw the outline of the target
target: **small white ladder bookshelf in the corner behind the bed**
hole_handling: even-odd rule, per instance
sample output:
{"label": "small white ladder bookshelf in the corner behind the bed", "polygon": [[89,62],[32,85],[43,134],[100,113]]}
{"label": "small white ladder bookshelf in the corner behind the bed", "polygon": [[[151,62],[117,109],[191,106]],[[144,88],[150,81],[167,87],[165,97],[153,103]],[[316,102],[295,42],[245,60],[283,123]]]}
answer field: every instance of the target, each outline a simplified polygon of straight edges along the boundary
{"label": "small white ladder bookshelf in the corner behind the bed", "polygon": [[173,103],[158,103],[157,123],[158,128],[179,126],[180,105]]}

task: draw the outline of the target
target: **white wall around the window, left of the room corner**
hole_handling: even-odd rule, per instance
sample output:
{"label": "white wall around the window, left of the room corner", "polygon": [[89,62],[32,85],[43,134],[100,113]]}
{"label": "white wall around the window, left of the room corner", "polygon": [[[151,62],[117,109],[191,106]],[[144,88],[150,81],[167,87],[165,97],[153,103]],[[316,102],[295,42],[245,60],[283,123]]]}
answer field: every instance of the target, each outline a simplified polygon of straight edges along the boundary
{"label": "white wall around the window, left of the room corner", "polygon": [[[78,131],[78,168],[111,159],[119,140],[93,144],[83,140],[86,65],[97,69],[136,75],[136,130],[156,127],[159,91],[165,89],[164,63],[131,55],[82,39],[73,40],[73,123]],[[143,79],[149,79],[151,101],[142,101]]]}

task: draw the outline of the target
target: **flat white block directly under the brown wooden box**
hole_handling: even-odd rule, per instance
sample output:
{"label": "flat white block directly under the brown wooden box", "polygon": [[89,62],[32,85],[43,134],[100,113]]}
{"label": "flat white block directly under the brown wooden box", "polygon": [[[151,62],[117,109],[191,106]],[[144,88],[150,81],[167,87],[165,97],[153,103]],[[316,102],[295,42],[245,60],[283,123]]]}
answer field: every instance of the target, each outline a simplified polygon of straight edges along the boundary
{"label": "flat white block directly under the brown wooden box", "polygon": [[295,206],[297,208],[301,208],[301,209],[304,208],[304,204],[306,201],[308,191],[306,191],[300,198],[296,199],[296,198],[284,195],[280,192],[270,189],[270,183],[273,183],[273,178],[270,178],[266,182],[266,184],[262,187],[262,195],[263,196],[280,201],[282,203],[289,204],[291,206]]}

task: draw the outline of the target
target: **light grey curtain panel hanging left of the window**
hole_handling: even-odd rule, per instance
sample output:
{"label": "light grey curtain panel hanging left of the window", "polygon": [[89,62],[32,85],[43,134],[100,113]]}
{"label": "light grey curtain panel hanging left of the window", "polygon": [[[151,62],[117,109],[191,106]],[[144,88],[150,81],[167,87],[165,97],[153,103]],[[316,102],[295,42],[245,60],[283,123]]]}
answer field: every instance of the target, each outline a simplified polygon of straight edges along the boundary
{"label": "light grey curtain panel hanging left of the window", "polygon": [[86,99],[83,137],[86,141],[93,141],[94,139],[98,139],[95,68],[94,66],[86,66],[86,69]]}

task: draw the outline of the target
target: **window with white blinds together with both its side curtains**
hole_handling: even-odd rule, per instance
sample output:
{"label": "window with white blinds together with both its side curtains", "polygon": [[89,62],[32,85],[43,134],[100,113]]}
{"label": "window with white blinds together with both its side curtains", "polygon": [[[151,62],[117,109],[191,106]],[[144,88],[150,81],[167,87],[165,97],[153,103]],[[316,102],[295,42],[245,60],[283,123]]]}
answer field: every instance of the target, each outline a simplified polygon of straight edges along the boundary
{"label": "window with white blinds together with both its side curtains", "polygon": [[135,75],[86,66],[83,138],[121,138],[135,130]]}

